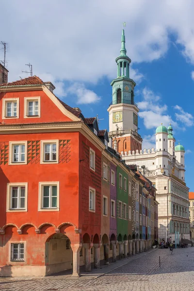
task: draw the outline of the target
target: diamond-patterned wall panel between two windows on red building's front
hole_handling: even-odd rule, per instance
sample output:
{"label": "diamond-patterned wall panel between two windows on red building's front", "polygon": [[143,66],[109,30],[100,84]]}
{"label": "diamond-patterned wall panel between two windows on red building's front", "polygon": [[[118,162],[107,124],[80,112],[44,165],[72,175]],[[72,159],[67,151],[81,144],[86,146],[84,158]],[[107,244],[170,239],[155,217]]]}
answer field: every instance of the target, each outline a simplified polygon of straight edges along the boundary
{"label": "diamond-patterned wall panel between two windows on red building's front", "polygon": [[28,163],[40,162],[40,141],[28,141],[27,160]]}

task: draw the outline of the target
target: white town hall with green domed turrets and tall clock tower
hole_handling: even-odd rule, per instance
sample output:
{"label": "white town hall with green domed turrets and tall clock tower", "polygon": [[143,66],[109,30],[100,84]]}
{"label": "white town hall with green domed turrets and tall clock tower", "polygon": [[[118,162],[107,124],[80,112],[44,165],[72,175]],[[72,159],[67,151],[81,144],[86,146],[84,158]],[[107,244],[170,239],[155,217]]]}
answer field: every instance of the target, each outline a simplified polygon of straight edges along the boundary
{"label": "white town hall with green domed turrets and tall clock tower", "polygon": [[[142,150],[138,134],[137,104],[134,102],[135,82],[129,78],[131,60],[126,54],[124,30],[120,56],[116,58],[117,78],[113,86],[113,102],[109,112],[109,138],[127,164],[136,164],[155,185],[158,207],[159,238],[189,239],[189,188],[185,183],[184,147],[175,146],[173,129],[161,124],[156,129],[155,149]],[[175,235],[176,233],[176,235]]]}

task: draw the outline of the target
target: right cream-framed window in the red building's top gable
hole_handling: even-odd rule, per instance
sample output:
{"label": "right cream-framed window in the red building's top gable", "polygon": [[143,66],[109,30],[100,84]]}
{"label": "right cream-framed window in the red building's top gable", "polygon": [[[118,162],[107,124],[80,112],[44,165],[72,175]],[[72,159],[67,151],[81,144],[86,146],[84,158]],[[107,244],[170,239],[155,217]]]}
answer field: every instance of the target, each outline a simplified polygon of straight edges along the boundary
{"label": "right cream-framed window in the red building's top gable", "polygon": [[40,117],[40,97],[24,97],[24,118]]}

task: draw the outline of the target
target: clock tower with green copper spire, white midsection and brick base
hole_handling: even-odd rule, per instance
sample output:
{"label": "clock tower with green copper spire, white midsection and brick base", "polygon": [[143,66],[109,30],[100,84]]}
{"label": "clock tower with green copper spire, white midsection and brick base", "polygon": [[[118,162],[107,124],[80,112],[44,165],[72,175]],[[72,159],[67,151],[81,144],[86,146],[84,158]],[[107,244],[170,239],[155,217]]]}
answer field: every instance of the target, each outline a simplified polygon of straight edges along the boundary
{"label": "clock tower with green copper spire, white midsection and brick base", "polygon": [[111,83],[113,101],[109,105],[109,138],[117,152],[142,149],[138,134],[137,104],[134,102],[136,83],[129,77],[130,58],[125,48],[125,32],[122,31],[120,55],[116,58],[117,78]]}

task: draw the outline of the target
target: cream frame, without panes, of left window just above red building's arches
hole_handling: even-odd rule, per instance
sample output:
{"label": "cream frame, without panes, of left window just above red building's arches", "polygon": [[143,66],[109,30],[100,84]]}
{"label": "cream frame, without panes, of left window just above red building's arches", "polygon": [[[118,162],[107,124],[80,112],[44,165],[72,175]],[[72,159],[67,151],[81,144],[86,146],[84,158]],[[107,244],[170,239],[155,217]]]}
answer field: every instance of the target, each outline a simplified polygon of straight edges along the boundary
{"label": "cream frame, without panes, of left window just above red building's arches", "polygon": [[[12,187],[25,187],[25,206],[24,208],[12,209]],[[7,212],[26,212],[28,211],[28,183],[7,183]]]}

